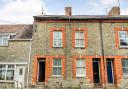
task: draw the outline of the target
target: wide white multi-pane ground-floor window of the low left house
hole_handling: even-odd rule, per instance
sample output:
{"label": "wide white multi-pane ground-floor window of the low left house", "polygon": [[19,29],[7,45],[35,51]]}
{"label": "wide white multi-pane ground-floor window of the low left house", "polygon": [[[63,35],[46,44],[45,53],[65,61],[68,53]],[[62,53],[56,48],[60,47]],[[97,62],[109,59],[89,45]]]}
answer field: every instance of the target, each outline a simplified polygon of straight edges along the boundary
{"label": "wide white multi-pane ground-floor window of the low left house", "polygon": [[14,65],[0,64],[0,80],[14,79]]}

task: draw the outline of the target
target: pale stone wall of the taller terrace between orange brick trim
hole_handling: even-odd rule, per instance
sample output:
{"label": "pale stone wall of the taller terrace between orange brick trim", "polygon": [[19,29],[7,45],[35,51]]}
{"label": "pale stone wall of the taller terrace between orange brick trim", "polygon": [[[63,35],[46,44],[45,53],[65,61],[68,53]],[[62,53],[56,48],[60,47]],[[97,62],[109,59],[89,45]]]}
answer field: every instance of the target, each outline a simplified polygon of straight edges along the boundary
{"label": "pale stone wall of the taller terrace between orange brick trim", "polygon": [[[33,34],[33,43],[32,43],[32,61],[31,61],[31,74],[30,78],[32,81],[33,78],[33,61],[36,60],[35,56],[47,57],[47,56],[65,56],[65,65],[66,65],[66,78],[63,79],[71,83],[73,79],[73,56],[94,56],[102,57],[101,50],[101,38],[100,38],[100,24],[99,23],[43,23],[35,22],[34,25],[37,25],[36,30]],[[116,27],[127,27],[127,23],[102,23],[102,32],[103,32],[103,48],[104,55],[107,57],[113,56],[127,56],[128,50],[116,48],[116,38],[114,28]],[[50,46],[50,32],[51,28],[64,28],[65,32],[65,47],[62,48],[53,48]],[[72,46],[73,41],[73,29],[74,28],[86,28],[87,29],[87,47],[80,49],[74,48]],[[52,60],[52,59],[51,59]],[[91,64],[89,66],[92,66]],[[50,67],[52,68],[52,67]],[[91,67],[89,67],[91,68]],[[115,67],[118,68],[118,67]],[[92,70],[90,70],[92,71]],[[117,70],[118,71],[118,70]],[[91,72],[92,73],[92,72]],[[118,72],[116,72],[118,73]],[[49,77],[49,80],[52,76]],[[90,77],[89,77],[90,78]],[[92,81],[93,78],[85,79],[87,82]],[[79,81],[80,82],[80,81]],[[92,83],[91,82],[91,83]],[[69,84],[68,83],[68,84]],[[76,82],[78,83],[78,81]],[[70,85],[70,84],[69,84]]]}

